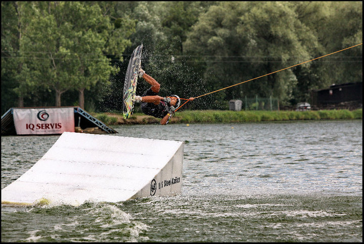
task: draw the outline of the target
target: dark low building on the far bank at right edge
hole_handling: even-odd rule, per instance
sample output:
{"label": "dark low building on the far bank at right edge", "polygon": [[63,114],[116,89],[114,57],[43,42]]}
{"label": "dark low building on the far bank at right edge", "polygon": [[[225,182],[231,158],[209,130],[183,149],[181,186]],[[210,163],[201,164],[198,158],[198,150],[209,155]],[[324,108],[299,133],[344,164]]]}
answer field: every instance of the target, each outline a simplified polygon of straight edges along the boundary
{"label": "dark low building on the far bank at right edge", "polygon": [[317,108],[335,108],[335,106],[362,107],[362,83],[332,85],[328,89],[311,92],[311,105]]}

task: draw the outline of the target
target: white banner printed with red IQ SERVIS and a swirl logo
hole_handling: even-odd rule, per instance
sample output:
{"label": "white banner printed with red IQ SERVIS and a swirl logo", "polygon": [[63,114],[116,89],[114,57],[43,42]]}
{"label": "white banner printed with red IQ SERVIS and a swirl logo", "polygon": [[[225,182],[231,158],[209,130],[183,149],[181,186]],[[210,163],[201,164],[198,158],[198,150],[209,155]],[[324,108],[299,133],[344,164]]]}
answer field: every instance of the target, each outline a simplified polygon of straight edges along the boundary
{"label": "white banner printed with red IQ SERVIS and a swirl logo", "polygon": [[74,132],[73,107],[14,108],[17,135],[45,135]]}

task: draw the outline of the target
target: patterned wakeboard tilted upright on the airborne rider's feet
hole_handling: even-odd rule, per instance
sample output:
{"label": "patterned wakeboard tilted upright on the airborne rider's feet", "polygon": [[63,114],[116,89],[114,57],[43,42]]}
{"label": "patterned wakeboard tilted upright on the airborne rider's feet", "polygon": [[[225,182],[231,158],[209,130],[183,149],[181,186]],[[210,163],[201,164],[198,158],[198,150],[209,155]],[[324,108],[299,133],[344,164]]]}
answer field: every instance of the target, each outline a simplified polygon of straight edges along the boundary
{"label": "patterned wakeboard tilted upright on the airborne rider's feet", "polygon": [[141,68],[143,44],[139,45],[131,54],[129,65],[126,70],[123,91],[123,115],[127,119],[134,110],[134,100],[136,83],[138,82],[138,73]]}

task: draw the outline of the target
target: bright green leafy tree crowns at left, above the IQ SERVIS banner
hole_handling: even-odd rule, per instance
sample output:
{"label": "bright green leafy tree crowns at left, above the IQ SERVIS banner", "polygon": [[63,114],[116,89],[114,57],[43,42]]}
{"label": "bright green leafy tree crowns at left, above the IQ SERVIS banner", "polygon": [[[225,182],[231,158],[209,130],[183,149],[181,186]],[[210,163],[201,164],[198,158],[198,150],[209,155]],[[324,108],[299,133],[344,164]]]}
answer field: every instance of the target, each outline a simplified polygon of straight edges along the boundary
{"label": "bright green leafy tree crowns at left, above the IQ SERVIS banner", "polygon": [[2,3],[2,13],[4,23],[9,23],[2,34],[2,44],[9,43],[2,77],[14,73],[14,92],[20,99],[54,90],[58,106],[67,91],[83,94],[97,83],[107,86],[118,68],[110,65],[105,53],[122,58],[133,31],[126,18],[115,29],[95,3],[9,2]]}

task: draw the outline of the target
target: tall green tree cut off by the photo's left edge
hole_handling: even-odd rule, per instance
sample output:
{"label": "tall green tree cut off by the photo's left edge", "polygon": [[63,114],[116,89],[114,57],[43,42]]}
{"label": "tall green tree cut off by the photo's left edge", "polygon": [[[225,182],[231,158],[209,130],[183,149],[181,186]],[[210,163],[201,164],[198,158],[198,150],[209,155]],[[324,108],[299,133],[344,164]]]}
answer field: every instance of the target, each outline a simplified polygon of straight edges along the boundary
{"label": "tall green tree cut off by the photo's left edge", "polygon": [[[2,106],[11,107],[11,96],[18,97],[17,106],[24,106],[24,98],[37,89],[29,67],[23,39],[32,15],[31,3],[2,2]],[[3,77],[7,77],[3,79]],[[8,86],[4,85],[9,82]],[[4,110],[2,108],[2,110]]]}

